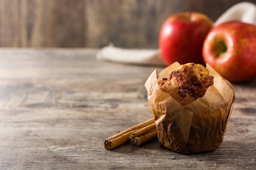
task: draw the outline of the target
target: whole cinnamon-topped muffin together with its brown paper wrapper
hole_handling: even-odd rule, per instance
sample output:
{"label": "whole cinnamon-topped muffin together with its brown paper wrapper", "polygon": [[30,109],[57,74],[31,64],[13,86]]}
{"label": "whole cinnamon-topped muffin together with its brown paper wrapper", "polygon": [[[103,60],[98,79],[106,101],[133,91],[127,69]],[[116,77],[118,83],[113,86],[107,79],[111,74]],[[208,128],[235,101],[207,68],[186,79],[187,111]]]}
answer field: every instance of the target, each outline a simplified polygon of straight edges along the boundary
{"label": "whole cinnamon-topped muffin together with its brown paper wrapper", "polygon": [[208,64],[175,62],[145,83],[160,144],[180,153],[216,150],[234,105],[233,86]]}

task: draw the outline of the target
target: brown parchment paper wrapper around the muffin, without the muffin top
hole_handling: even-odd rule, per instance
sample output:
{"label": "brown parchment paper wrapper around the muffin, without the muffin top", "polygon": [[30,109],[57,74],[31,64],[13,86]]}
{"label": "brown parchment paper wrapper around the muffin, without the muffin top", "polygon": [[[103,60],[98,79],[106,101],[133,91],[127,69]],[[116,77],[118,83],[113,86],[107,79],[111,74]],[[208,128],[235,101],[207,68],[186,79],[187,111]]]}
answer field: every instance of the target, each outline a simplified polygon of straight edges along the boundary
{"label": "brown parchment paper wrapper around the muffin, without the muffin top", "polygon": [[177,62],[171,64],[158,78],[155,70],[145,83],[159,142],[180,153],[214,151],[222,143],[227,128],[235,100],[234,88],[207,64],[209,75],[214,77],[213,85],[203,97],[182,106],[157,84],[179,66]]}

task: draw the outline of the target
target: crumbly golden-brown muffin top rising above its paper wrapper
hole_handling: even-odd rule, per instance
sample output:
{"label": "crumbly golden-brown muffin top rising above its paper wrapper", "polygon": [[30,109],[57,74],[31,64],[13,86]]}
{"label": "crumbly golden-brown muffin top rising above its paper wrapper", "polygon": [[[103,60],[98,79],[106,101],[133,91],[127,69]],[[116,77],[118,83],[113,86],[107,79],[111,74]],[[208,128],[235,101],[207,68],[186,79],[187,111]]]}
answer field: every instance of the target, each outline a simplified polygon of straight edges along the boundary
{"label": "crumbly golden-brown muffin top rising above its paper wrapper", "polygon": [[169,78],[160,80],[158,85],[164,93],[169,93],[185,106],[204,96],[207,88],[213,85],[213,76],[203,65],[187,63],[179,66]]}

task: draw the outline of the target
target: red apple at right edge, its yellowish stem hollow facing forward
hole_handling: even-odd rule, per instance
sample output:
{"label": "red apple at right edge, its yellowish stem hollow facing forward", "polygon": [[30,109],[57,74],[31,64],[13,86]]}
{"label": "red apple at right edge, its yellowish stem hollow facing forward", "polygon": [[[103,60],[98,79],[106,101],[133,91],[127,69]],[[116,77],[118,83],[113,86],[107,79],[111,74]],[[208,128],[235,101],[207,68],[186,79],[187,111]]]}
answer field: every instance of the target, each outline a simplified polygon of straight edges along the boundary
{"label": "red apple at right edge, its yellowish stem hollow facing forward", "polygon": [[230,21],[213,28],[204,41],[203,58],[230,82],[256,77],[256,26]]}

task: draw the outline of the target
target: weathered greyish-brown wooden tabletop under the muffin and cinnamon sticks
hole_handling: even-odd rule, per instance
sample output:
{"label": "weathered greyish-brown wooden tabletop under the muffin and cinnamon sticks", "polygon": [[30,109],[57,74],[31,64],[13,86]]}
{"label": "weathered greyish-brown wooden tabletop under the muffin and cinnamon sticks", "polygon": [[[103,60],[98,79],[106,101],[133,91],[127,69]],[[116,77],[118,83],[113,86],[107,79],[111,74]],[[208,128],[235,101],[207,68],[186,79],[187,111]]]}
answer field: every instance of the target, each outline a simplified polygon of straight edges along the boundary
{"label": "weathered greyish-brown wooden tabletop under the muffin and cinnamon sticks", "polygon": [[0,169],[256,169],[256,80],[233,84],[221,146],[179,154],[155,139],[103,141],[153,117],[144,83],[164,67],[95,59],[97,49],[0,49]]}

